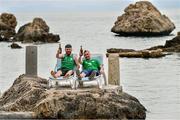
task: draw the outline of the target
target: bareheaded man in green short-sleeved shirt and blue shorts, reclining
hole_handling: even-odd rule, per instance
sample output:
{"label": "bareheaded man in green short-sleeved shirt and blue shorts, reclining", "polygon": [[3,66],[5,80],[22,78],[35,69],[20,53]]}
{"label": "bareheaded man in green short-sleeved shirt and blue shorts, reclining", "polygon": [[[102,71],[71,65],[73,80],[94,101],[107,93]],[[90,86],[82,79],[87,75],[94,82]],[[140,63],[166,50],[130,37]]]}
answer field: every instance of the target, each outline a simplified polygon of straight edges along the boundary
{"label": "bareheaded man in green short-sleeved shirt and blue shorts, reclining", "polygon": [[81,60],[82,53],[79,55],[79,63],[82,64],[83,70],[80,73],[79,70],[76,71],[76,74],[79,79],[83,77],[89,77],[92,80],[95,76],[98,76],[100,73],[103,73],[103,65],[100,65],[100,62],[96,59],[91,58],[91,54],[88,50],[84,51],[85,59]]}

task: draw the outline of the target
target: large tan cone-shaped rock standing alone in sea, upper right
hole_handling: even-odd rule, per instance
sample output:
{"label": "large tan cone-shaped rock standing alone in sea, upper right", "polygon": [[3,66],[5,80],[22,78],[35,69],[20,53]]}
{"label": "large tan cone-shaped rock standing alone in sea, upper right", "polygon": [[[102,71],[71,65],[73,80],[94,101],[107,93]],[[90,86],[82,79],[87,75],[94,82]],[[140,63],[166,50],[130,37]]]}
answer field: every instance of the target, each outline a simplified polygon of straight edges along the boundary
{"label": "large tan cone-shaped rock standing alone in sea, upper right", "polygon": [[169,35],[174,29],[170,19],[162,15],[149,1],[130,4],[117,18],[112,32],[122,36]]}

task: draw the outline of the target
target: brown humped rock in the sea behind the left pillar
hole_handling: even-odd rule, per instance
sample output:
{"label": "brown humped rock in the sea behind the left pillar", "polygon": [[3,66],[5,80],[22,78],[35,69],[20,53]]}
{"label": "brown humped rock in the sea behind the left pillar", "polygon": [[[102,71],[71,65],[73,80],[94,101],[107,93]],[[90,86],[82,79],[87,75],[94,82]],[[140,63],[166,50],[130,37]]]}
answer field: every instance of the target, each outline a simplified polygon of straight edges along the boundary
{"label": "brown humped rock in the sea behind the left pillar", "polygon": [[14,40],[21,41],[23,43],[52,43],[58,42],[60,37],[59,35],[49,33],[49,26],[42,18],[34,18],[32,23],[27,23],[20,27]]}

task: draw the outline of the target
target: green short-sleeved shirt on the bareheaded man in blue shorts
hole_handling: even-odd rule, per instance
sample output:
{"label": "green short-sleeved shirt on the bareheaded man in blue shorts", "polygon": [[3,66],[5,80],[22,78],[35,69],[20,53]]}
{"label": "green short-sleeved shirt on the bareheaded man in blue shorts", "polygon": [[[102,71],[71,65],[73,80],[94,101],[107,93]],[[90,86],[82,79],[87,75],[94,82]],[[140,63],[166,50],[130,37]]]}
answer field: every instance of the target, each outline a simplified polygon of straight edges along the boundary
{"label": "green short-sleeved shirt on the bareheaded man in blue shorts", "polygon": [[83,60],[82,66],[84,70],[99,70],[100,62],[96,59]]}

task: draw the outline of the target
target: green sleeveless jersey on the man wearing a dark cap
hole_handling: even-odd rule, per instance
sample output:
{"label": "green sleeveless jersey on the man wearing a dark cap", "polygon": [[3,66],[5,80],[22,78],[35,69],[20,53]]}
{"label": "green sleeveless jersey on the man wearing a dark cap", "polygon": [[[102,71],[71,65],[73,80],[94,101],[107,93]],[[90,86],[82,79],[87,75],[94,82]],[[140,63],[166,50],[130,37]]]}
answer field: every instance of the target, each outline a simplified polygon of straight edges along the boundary
{"label": "green sleeveless jersey on the man wearing a dark cap", "polygon": [[73,55],[67,56],[64,54],[64,57],[61,60],[61,69],[64,70],[73,70],[75,67],[75,61]]}

